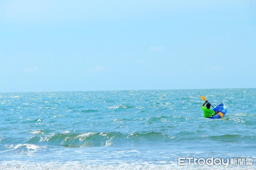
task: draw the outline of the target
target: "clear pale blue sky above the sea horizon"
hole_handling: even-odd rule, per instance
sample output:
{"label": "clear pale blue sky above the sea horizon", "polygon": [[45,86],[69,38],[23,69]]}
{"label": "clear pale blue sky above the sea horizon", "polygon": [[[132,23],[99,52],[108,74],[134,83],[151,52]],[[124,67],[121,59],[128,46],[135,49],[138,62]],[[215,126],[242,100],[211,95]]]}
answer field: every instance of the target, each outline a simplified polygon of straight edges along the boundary
{"label": "clear pale blue sky above the sea horizon", "polygon": [[256,88],[255,0],[1,0],[0,92]]}

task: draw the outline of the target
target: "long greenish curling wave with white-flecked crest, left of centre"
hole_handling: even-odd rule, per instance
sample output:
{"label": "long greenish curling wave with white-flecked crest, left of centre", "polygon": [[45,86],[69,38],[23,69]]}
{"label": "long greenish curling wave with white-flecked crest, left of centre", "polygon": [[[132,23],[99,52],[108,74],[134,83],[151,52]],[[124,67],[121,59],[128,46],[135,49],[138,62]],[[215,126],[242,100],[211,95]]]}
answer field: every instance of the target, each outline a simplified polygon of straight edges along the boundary
{"label": "long greenish curling wave with white-flecked crest, left of centre", "polygon": [[41,145],[54,145],[62,147],[108,147],[113,145],[131,144],[140,141],[162,141],[173,139],[173,136],[158,132],[88,132],[88,133],[53,133],[44,135],[41,131],[32,131],[33,137],[29,138],[28,143]]}

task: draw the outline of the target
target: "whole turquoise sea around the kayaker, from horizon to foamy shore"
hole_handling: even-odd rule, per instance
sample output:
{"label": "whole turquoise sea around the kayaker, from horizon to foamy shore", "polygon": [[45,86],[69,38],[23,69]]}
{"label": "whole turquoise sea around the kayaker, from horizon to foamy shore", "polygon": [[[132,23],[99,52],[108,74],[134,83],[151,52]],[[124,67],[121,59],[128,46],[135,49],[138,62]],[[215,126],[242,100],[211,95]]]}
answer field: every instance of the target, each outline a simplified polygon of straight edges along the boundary
{"label": "whole turquoise sea around the kayaker, from horizon to foamy shore", "polygon": [[[227,105],[202,118],[204,95]],[[178,157],[253,158],[256,89],[0,93],[0,169],[191,169]],[[222,165],[193,169],[221,169]]]}

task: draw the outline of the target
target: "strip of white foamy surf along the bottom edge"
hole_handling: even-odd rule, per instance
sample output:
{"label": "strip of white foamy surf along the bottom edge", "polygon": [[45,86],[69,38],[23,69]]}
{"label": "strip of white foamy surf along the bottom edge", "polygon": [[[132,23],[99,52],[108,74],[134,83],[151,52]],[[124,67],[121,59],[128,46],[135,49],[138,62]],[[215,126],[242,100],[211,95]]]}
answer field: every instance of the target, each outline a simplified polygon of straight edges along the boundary
{"label": "strip of white foamy surf along the bottom edge", "polygon": [[148,162],[119,162],[103,164],[86,164],[79,161],[58,162],[23,162],[2,161],[0,170],[253,170],[255,166],[178,166],[174,164],[151,164]]}

